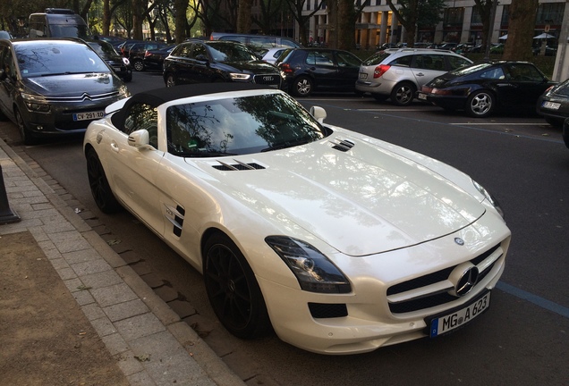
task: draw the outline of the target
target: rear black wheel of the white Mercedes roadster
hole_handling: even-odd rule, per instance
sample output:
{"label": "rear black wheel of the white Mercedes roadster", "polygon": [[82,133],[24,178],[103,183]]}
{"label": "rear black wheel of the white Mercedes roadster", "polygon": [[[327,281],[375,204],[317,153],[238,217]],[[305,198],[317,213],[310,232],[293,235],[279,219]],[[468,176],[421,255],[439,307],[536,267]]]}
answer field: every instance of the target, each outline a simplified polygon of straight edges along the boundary
{"label": "rear black wheel of the white Mercedes roadster", "polygon": [[114,214],[122,208],[116,200],[111,187],[106,180],[105,170],[98,159],[97,152],[93,148],[87,150],[87,177],[91,194],[98,208],[104,214]]}

